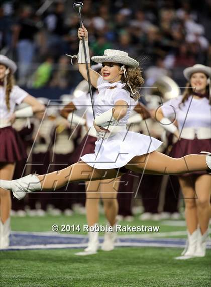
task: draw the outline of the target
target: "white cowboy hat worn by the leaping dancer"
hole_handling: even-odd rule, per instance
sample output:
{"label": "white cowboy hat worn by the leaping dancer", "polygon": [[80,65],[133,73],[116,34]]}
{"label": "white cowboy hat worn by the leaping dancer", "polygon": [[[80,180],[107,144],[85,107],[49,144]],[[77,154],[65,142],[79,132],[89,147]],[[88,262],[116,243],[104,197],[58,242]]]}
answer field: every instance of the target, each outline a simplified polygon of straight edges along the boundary
{"label": "white cowboy hat worn by the leaping dancer", "polygon": [[130,68],[137,68],[139,62],[128,56],[128,53],[119,50],[105,50],[103,56],[94,56],[91,59],[96,63],[112,62],[127,65]]}

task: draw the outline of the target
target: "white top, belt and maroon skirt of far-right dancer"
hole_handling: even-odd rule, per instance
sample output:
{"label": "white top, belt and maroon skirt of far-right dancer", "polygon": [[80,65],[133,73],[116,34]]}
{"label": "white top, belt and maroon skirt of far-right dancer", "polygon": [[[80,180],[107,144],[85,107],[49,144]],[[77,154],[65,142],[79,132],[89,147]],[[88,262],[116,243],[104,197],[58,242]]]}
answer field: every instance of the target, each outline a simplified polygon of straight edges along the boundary
{"label": "white top, belt and maroon skirt of far-right dancer", "polygon": [[[211,113],[207,97],[189,96],[183,103],[182,96],[171,99],[161,107],[164,117],[176,117],[181,139],[172,148],[170,156],[180,158],[211,150]],[[205,174],[201,171],[195,174]],[[186,174],[187,175],[187,174]]]}

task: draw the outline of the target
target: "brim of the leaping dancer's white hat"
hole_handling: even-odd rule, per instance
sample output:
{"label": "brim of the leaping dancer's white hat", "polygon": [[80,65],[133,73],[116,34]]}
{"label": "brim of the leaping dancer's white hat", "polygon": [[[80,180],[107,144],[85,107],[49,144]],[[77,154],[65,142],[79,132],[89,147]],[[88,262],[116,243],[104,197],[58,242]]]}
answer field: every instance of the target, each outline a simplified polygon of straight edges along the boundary
{"label": "brim of the leaping dancer's white hat", "polygon": [[138,61],[128,56],[94,56],[91,57],[91,60],[93,60],[96,63],[103,63],[103,62],[120,63],[123,65],[127,65],[130,68],[137,68],[139,66]]}

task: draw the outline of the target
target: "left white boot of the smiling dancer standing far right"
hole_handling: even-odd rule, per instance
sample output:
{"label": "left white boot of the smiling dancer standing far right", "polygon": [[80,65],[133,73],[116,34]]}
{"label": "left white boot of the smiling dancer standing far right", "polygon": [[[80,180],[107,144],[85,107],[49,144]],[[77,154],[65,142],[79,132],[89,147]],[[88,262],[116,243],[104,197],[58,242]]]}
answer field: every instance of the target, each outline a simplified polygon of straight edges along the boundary
{"label": "left white boot of the smiling dancer standing far right", "polygon": [[197,246],[197,239],[198,239],[198,229],[196,229],[192,234],[187,232],[188,240],[186,243],[186,247],[182,252],[182,256],[176,257],[177,260],[185,260],[190,259],[195,256],[196,246]]}

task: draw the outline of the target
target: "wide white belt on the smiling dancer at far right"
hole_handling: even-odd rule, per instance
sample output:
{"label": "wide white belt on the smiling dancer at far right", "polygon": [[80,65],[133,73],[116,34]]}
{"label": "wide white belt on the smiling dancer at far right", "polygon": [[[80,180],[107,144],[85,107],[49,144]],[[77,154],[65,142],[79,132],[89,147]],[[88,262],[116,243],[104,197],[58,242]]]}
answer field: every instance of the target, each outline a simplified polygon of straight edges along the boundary
{"label": "wide white belt on the smiling dancer at far right", "polygon": [[181,133],[181,138],[187,140],[211,139],[211,128],[184,128]]}

